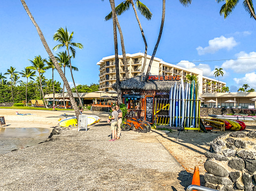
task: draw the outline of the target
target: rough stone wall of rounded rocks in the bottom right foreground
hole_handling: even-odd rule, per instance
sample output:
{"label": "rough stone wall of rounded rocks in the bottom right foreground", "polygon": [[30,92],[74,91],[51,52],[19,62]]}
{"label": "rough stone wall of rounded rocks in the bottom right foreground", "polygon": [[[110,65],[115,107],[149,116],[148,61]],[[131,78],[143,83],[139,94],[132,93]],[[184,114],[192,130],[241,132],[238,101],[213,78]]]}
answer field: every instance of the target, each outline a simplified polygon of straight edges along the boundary
{"label": "rough stone wall of rounded rocks in the bottom right foreground", "polygon": [[256,131],[223,134],[205,156],[205,187],[256,191]]}

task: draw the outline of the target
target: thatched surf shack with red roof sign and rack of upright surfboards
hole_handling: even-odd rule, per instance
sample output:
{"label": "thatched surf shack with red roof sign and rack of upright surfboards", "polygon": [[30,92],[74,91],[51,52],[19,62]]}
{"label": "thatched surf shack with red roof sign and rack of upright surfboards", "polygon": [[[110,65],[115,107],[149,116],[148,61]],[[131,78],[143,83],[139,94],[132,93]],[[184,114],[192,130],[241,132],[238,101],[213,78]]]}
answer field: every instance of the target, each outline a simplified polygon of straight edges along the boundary
{"label": "thatched surf shack with red roof sign and rack of upright surfboards", "polygon": [[[172,129],[192,126],[193,130],[200,130],[200,102],[195,82],[190,86],[180,76],[151,75],[147,82],[144,78],[137,76],[121,81],[122,102],[129,113],[156,126],[170,126]],[[115,84],[113,88],[116,88]],[[191,95],[188,95],[190,90]]]}

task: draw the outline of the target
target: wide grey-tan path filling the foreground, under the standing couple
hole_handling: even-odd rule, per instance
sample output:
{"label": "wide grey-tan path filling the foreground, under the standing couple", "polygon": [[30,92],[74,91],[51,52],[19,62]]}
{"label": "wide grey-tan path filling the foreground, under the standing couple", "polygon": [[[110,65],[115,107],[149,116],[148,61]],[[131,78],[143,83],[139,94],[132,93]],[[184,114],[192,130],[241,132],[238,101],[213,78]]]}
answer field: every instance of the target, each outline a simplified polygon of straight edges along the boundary
{"label": "wide grey-tan path filling the foreground, under the standing couple", "polygon": [[0,155],[0,190],[184,190],[191,183],[154,132],[122,131],[115,142],[108,135],[100,122]]}

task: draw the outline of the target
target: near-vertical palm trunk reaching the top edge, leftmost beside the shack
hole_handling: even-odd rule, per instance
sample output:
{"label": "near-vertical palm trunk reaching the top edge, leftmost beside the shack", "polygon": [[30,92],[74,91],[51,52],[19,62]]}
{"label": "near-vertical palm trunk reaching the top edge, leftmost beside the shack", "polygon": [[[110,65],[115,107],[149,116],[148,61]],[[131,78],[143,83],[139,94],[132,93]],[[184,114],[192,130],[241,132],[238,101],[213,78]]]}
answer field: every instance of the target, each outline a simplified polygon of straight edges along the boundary
{"label": "near-vertical palm trunk reaching the top edge, leftmost beside the shack", "polygon": [[117,83],[117,94],[118,94],[118,104],[122,103],[122,97],[121,97],[121,83],[120,83],[120,74],[119,74],[119,63],[118,63],[118,35],[117,35],[117,14],[115,14],[115,1],[110,0],[110,5],[112,9],[112,20],[113,20],[113,32],[114,32],[114,47],[115,47],[115,76],[117,80],[115,83]]}

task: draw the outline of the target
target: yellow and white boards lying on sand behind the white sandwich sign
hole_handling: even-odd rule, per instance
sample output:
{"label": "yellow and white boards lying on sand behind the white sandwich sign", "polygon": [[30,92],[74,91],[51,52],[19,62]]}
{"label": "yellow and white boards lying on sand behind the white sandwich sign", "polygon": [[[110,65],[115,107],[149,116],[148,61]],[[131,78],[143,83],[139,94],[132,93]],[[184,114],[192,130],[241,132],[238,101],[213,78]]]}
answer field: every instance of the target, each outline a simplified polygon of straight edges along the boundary
{"label": "yellow and white boards lying on sand behind the white sandwich sign", "polygon": [[[70,126],[77,126],[77,119],[76,117],[66,118],[66,119],[59,119],[58,125],[60,127],[70,127]],[[87,126],[91,126],[92,124],[98,123],[100,118],[97,115],[87,115]]]}

